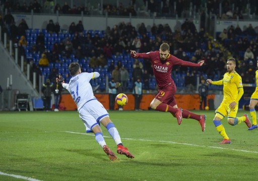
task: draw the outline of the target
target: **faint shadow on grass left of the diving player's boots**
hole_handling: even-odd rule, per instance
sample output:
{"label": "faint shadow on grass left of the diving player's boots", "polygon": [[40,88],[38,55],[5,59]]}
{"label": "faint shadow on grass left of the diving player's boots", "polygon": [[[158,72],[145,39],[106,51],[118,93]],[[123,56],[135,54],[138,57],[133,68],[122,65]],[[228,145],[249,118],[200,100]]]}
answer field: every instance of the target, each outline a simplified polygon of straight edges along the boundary
{"label": "faint shadow on grass left of the diving player's boots", "polygon": [[99,153],[96,149],[64,149],[69,152],[77,153],[84,156],[91,156],[95,157],[97,159],[106,160],[108,157],[106,153],[103,151],[103,153]]}

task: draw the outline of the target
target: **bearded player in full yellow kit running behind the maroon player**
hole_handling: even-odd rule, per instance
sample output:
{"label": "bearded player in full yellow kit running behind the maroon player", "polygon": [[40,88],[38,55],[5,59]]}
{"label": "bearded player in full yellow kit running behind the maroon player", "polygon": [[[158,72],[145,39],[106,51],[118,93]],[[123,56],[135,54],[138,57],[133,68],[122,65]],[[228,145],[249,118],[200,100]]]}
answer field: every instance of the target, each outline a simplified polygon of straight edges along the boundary
{"label": "bearded player in full yellow kit running behind the maroon player", "polygon": [[223,137],[223,141],[219,144],[231,143],[228,135],[226,134],[225,128],[221,123],[221,120],[228,116],[228,123],[232,126],[245,122],[248,128],[251,127],[251,122],[247,115],[244,114],[242,117],[236,117],[238,110],[238,102],[242,97],[244,91],[242,86],[242,78],[235,71],[236,61],[234,58],[227,60],[227,70],[222,80],[212,81],[207,79],[209,84],[223,85],[223,101],[219,108],[216,110],[216,115],[213,119],[213,123],[216,126],[217,131]]}

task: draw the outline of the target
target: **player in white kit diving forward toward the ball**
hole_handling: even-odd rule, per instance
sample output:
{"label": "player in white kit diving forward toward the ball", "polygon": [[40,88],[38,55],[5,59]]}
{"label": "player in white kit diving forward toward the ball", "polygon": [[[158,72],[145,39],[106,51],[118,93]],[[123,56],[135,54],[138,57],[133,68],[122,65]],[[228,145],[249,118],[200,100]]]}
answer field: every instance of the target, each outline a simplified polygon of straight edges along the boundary
{"label": "player in white kit diving forward toward the ball", "polygon": [[109,114],[103,105],[94,97],[90,80],[99,77],[98,72],[83,72],[77,62],[69,65],[69,72],[73,76],[69,83],[64,83],[63,78],[59,75],[56,82],[66,88],[73,97],[79,112],[79,117],[83,121],[86,132],[93,132],[95,139],[103,148],[111,160],[116,160],[116,155],[106,145],[103,138],[100,123],[107,129],[117,145],[117,153],[124,154],[128,158],[134,158],[126,147],[123,146],[121,138]]}

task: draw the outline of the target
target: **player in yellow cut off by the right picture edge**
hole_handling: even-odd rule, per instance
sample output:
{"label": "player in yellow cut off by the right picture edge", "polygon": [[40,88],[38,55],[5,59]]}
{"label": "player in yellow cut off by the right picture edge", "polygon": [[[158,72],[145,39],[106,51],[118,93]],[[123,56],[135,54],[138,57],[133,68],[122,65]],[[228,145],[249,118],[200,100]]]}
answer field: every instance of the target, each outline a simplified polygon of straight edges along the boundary
{"label": "player in yellow cut off by the right picture edge", "polygon": [[[257,61],[257,66],[258,66],[258,61]],[[252,126],[250,128],[248,128],[248,130],[253,130],[258,127],[257,121],[256,121],[256,112],[254,109],[254,107],[258,103],[258,70],[255,71],[255,79],[256,79],[256,88],[255,88],[254,93],[251,96],[250,104],[249,104],[250,114],[252,117]]]}

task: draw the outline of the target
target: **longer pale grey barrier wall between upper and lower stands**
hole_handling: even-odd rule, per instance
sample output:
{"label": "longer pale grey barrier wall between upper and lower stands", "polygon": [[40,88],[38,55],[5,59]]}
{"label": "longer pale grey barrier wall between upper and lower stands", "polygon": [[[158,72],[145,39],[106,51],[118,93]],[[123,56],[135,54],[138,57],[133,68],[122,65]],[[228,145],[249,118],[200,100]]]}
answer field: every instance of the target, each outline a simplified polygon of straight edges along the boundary
{"label": "longer pale grey barrier wall between upper and lower stands", "polygon": [[[136,18],[130,17],[128,18],[120,18],[120,17],[89,17],[89,16],[56,16],[56,15],[18,15],[13,14],[16,25],[18,26],[21,22],[21,19],[24,19],[29,28],[35,29],[46,29],[46,25],[48,24],[49,20],[53,20],[53,22],[57,22],[60,25],[61,29],[68,30],[69,26],[72,22],[75,22],[75,24],[78,24],[78,22],[81,20],[84,29],[86,30],[105,30],[107,26],[112,28],[114,25],[118,25],[120,22],[128,23],[131,22],[132,26],[136,27],[138,30],[138,27],[144,23],[147,30],[150,31],[153,23],[156,25],[162,24],[168,24],[172,31],[174,31],[177,27],[181,27],[181,24],[185,21],[185,19],[153,19],[153,18]],[[197,30],[199,31],[200,27],[200,21],[198,19],[194,20],[193,23],[196,25]]]}

